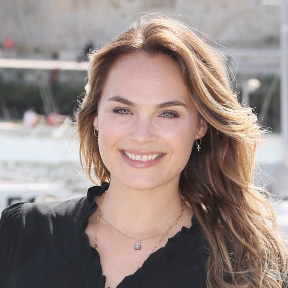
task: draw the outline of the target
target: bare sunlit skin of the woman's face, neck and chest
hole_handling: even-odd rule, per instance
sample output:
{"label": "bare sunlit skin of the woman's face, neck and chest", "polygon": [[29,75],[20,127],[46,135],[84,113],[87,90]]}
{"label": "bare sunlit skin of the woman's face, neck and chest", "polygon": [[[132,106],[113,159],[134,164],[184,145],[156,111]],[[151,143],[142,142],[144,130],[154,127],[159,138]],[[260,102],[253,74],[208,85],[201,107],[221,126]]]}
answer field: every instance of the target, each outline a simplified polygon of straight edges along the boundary
{"label": "bare sunlit skin of the woman's face, neck and chest", "polygon": [[[111,173],[102,203],[104,218],[137,239],[166,231],[182,210],[181,171],[195,139],[207,130],[178,65],[162,55],[136,53],[120,58],[108,73],[93,125],[101,158]],[[158,248],[182,226],[190,227],[192,215],[186,207]],[[95,221],[96,213],[86,229],[91,246]],[[102,218],[97,239],[105,287],[116,287],[133,274],[158,241],[158,237],[146,240],[141,251],[135,252],[135,241]]]}

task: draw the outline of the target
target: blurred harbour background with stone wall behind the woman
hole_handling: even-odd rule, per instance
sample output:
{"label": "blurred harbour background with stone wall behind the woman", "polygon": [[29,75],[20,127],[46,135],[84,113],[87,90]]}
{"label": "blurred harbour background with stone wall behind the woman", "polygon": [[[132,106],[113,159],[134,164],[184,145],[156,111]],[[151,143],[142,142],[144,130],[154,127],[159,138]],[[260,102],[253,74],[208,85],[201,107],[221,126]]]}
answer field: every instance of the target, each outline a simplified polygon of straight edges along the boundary
{"label": "blurred harbour background with stone wall behind the woman", "polygon": [[282,199],[288,234],[288,0],[0,0],[0,211],[86,194],[72,136],[87,53],[143,12],[202,31],[229,61],[239,101],[271,128],[255,179]]}

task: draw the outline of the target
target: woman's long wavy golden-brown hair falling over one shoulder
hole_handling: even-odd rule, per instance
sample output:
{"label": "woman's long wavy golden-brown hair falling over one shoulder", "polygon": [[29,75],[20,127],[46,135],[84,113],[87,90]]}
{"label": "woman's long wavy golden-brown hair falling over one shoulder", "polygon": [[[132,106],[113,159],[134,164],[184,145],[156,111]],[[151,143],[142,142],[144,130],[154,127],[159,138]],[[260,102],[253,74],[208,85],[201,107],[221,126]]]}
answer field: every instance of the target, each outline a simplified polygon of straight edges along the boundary
{"label": "woman's long wavy golden-brown hair falling over one shoulder", "polygon": [[265,191],[253,184],[261,129],[252,110],[238,103],[222,56],[191,27],[163,15],[145,15],[90,55],[77,121],[80,156],[88,177],[94,183],[110,180],[93,119],[113,64],[138,52],[175,60],[191,101],[208,123],[201,152],[192,149],[179,183],[208,244],[207,287],[282,287],[287,250]]}

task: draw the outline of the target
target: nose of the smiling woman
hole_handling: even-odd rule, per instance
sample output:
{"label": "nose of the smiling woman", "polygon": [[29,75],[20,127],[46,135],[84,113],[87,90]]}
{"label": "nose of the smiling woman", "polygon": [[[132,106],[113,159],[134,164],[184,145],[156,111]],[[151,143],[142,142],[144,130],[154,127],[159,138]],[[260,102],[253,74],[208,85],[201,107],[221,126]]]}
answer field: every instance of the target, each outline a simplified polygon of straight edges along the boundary
{"label": "nose of the smiling woman", "polygon": [[138,117],[131,127],[129,139],[140,143],[152,142],[155,139],[155,129],[149,117]]}

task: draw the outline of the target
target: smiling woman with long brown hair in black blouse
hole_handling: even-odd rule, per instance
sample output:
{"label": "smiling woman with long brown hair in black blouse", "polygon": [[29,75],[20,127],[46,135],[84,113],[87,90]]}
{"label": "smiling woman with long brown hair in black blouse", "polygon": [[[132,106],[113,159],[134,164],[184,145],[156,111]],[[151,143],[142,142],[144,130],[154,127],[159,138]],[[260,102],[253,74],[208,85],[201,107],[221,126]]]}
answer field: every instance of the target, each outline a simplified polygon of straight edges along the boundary
{"label": "smiling woman with long brown hair in black blouse", "polygon": [[77,128],[102,185],[4,211],[4,287],[285,287],[256,117],[189,27],[144,16],[90,55]]}

